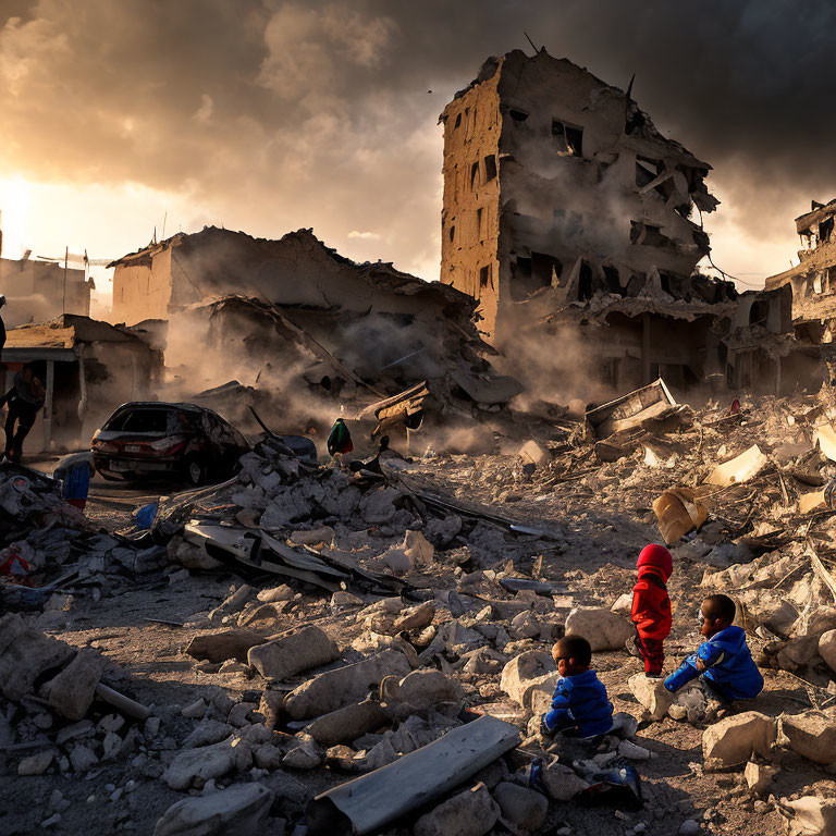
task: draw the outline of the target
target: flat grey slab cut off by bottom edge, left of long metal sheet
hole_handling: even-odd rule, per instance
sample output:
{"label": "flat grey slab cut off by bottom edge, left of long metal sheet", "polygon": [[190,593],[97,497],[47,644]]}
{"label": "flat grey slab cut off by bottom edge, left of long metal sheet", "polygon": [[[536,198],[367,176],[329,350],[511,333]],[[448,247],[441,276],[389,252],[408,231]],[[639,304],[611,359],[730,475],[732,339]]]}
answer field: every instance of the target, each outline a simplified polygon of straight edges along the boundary
{"label": "flat grey slab cut off by bottom edge, left of long metal sheet", "polygon": [[260,836],[272,801],[272,791],[261,784],[184,798],[162,814],[153,836]]}

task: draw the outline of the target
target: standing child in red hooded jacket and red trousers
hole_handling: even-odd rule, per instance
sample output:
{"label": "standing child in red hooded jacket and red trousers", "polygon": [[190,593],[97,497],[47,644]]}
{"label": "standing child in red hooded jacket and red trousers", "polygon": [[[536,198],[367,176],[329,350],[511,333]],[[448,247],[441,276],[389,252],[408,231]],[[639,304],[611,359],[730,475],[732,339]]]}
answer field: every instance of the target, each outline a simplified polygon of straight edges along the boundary
{"label": "standing child in red hooded jacket and red trousers", "polygon": [[667,579],[674,570],[671,552],[662,545],[646,545],[636,562],[639,579],[632,588],[630,617],[636,625],[634,639],[638,654],[644,660],[644,676],[662,675],[665,661],[663,642],[671,632],[671,599]]}

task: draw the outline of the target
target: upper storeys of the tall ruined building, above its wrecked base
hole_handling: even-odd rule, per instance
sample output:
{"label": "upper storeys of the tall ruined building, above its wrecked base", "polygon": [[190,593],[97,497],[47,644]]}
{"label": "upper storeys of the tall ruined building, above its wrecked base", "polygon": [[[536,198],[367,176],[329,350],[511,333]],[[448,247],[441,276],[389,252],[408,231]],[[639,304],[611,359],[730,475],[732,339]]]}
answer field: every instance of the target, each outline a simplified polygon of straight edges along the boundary
{"label": "upper storeys of the tall ruined building, above its wrecked base", "polygon": [[690,279],[710,249],[692,214],[717,205],[711,167],[622,90],[544,50],[515,50],[489,59],[441,122],[441,281],[479,299],[491,339],[540,294],[555,306],[654,285],[674,298],[722,294]]}

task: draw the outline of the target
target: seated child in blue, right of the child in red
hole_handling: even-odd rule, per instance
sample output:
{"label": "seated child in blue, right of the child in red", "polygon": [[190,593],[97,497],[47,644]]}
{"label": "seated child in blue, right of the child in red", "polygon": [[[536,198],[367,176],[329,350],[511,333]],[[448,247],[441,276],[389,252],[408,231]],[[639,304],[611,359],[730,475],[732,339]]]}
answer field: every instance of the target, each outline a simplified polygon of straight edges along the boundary
{"label": "seated child in blue, right of the child in red", "polygon": [[700,632],[708,639],[678,671],[665,679],[672,693],[697,677],[724,705],[748,700],[763,690],[763,676],[746,643],[746,632],[735,627],[735,602],[727,595],[709,595],[700,610]]}

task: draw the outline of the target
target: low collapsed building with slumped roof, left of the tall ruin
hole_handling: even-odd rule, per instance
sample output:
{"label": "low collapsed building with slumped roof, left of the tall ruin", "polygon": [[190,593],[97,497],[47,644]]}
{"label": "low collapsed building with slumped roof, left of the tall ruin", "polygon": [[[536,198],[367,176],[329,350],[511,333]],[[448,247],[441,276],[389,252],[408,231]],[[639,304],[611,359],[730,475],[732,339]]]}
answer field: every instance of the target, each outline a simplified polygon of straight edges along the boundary
{"label": "low collapsed building with slumped roof, left of the tall ruin", "polygon": [[[477,331],[471,296],[389,263],[356,263],[310,230],[270,241],[206,228],[113,267],[114,316],[155,347],[168,321],[165,364],[190,386],[179,395],[211,388],[210,402],[229,401],[223,384],[237,376],[282,394],[276,418],[293,411],[302,391],[316,402],[302,411],[312,417],[322,407],[333,420],[334,402],[361,410],[419,383],[419,401],[431,397],[439,409],[494,411],[520,391],[491,373],[493,352]],[[414,401],[405,394],[404,408],[422,415]],[[218,408],[233,421],[247,418],[241,408]]]}

